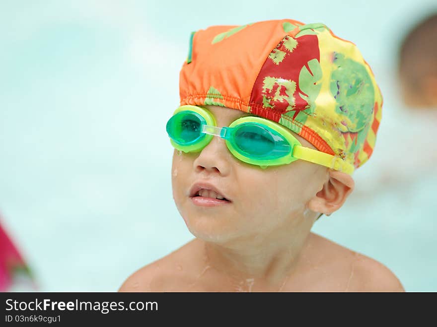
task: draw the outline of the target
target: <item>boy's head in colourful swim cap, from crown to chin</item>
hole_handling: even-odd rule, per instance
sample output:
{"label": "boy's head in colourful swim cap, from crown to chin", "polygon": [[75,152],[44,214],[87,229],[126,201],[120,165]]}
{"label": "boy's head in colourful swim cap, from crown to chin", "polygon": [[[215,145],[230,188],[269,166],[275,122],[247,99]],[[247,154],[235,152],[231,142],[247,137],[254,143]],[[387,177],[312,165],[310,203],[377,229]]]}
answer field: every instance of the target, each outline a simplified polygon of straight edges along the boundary
{"label": "boy's head in colourful swim cap, from crown to chin", "polygon": [[[206,108],[219,128],[243,116],[262,117],[322,154],[312,161],[321,164],[307,157],[261,169],[238,159],[217,136],[200,152],[175,150],[173,196],[190,231],[203,238],[224,237],[224,230],[310,228],[318,213],[337,210],[354,188],[352,171],[372,153],[382,105],[353,43],[323,24],[289,19],[192,33],[180,97],[181,106]],[[231,201],[193,204],[192,187],[206,181]]]}

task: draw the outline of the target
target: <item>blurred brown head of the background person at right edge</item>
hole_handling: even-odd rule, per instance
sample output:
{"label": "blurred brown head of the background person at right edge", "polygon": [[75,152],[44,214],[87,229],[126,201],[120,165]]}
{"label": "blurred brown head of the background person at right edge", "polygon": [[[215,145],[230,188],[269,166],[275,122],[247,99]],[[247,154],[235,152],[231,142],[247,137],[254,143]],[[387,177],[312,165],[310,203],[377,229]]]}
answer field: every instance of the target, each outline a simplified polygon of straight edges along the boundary
{"label": "blurred brown head of the background person at right edge", "polygon": [[398,72],[404,102],[437,107],[437,13],[417,24],[404,38]]}

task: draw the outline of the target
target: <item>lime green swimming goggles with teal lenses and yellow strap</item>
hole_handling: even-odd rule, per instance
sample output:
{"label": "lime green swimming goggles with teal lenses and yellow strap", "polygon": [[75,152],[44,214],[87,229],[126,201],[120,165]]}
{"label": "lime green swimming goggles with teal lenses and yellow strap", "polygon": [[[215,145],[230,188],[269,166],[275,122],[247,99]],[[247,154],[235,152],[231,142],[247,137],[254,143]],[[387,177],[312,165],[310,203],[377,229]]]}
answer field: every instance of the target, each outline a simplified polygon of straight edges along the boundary
{"label": "lime green swimming goggles with teal lenses and yellow strap", "polygon": [[185,153],[201,151],[216,135],[236,158],[263,169],[302,159],[348,174],[354,171],[340,157],[302,146],[290,130],[262,117],[241,117],[229,127],[217,127],[208,109],[184,105],[175,110],[166,130],[173,147]]}

